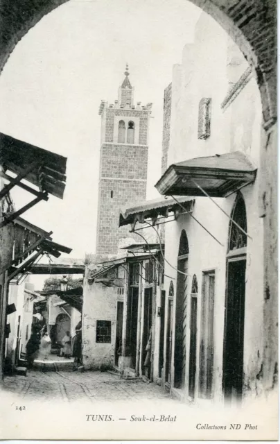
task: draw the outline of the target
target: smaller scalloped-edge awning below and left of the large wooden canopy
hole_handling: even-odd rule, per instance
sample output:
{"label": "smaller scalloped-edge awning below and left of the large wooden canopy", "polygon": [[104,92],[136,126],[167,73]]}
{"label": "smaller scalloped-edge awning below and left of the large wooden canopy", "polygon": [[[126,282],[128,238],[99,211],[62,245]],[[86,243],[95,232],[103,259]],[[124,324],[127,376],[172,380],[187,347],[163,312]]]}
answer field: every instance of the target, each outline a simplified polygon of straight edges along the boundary
{"label": "smaller scalloped-edge awning below and left of the large wooden canopy", "polygon": [[[178,199],[180,203],[184,203],[186,210],[191,211],[194,200],[190,200],[189,196],[182,196]],[[120,211],[119,226],[128,225],[138,221],[144,223],[145,219],[156,219],[159,216],[168,217],[170,212],[179,210],[180,205],[173,198],[157,198],[146,200],[133,207],[128,207]]]}

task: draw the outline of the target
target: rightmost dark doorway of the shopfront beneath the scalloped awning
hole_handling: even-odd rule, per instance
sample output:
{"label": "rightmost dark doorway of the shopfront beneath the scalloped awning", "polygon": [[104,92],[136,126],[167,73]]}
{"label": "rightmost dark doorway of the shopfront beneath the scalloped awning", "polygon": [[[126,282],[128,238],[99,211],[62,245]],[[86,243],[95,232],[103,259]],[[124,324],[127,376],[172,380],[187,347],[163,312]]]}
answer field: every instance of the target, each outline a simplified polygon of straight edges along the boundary
{"label": "rightmost dark doorway of the shopfront beneath the scalloped awning", "polygon": [[151,378],[152,357],[152,288],[144,291],[144,318],[143,318],[143,341],[142,341],[142,372]]}

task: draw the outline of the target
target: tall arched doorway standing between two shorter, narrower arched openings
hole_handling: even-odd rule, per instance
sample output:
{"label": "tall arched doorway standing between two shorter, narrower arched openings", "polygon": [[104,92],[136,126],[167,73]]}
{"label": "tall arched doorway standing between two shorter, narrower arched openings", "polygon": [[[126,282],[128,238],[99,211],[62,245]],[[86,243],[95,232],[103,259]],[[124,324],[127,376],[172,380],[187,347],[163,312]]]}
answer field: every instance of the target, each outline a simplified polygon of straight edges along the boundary
{"label": "tall arched doorway standing between two shorter, narrower arched openings", "polygon": [[182,230],[177,259],[177,291],[175,314],[174,386],[184,387],[186,375],[186,290],[188,286],[189,243]]}

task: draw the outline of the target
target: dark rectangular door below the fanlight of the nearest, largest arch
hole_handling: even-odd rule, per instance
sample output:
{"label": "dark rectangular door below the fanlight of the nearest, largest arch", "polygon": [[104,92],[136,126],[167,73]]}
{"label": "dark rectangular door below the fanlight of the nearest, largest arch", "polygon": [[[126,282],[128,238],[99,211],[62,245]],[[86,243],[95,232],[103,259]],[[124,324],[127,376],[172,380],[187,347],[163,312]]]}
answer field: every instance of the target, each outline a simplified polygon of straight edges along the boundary
{"label": "dark rectangular door below the fanlight of the nearest, largest arch", "polygon": [[245,271],[245,259],[233,260],[227,264],[227,302],[223,362],[223,385],[225,398],[227,399],[242,397]]}

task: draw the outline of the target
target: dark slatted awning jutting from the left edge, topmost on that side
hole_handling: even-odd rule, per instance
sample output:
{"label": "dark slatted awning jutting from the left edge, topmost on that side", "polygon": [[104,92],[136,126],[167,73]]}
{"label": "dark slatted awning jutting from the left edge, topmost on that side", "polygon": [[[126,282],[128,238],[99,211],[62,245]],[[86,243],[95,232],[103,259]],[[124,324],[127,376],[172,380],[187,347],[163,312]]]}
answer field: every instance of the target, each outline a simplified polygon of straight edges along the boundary
{"label": "dark slatted awning jutting from the left edge, topmost on that side", "polygon": [[[4,178],[10,178],[6,175],[6,170],[10,170],[38,187],[40,192],[63,198],[66,157],[0,133],[0,164],[5,171],[2,174]],[[24,184],[19,182],[15,185],[24,187]]]}

